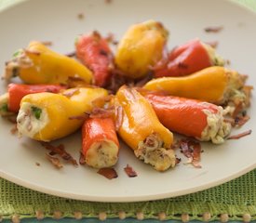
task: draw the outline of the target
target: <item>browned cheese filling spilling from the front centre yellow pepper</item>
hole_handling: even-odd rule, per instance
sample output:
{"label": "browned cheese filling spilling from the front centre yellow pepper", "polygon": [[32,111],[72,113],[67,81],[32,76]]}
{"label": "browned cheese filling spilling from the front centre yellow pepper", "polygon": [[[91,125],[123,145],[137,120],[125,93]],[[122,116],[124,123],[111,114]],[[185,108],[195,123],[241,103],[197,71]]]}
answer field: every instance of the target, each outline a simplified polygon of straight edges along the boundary
{"label": "browned cheese filling spilling from the front centre yellow pepper", "polygon": [[163,144],[161,138],[153,133],[139,143],[134,153],[145,164],[153,165],[155,170],[165,171],[175,166],[176,157],[174,151],[164,148]]}

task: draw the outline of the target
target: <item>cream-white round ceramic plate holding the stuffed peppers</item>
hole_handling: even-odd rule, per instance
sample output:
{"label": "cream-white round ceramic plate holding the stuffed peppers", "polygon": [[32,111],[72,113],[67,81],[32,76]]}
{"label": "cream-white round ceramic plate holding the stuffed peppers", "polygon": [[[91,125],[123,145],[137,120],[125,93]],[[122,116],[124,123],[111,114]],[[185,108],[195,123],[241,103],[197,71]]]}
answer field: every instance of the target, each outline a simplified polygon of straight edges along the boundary
{"label": "cream-white round ceramic plate holding the stuffed peppers", "polygon": [[[79,20],[78,14],[84,19]],[[219,41],[218,52],[231,61],[231,67],[249,74],[249,85],[256,84],[256,15],[222,0],[34,0],[25,1],[0,13],[0,71],[12,53],[31,40],[52,41],[61,53],[74,50],[80,33],[99,30],[115,33],[119,39],[130,24],[160,20],[170,31],[169,47],[195,37]],[[220,33],[205,33],[204,28],[222,26]],[[200,86],[198,86],[200,87]],[[1,93],[5,91],[1,82]],[[249,114],[255,114],[255,94]],[[255,130],[255,115],[236,132]],[[56,170],[46,159],[46,150],[28,138],[9,133],[12,125],[0,118],[0,176],[24,187],[73,199],[99,202],[132,202],[168,198],[205,190],[239,177],[256,167],[254,132],[246,138],[223,145],[203,144],[202,168],[178,164],[165,173],[137,160],[122,147],[115,166],[118,178],[108,180],[86,166],[70,164]],[[61,140],[78,159],[79,133]],[[58,142],[56,142],[58,143]],[[183,159],[185,161],[185,159]],[[35,163],[39,163],[37,166]],[[129,178],[123,168],[130,164],[138,177]]]}

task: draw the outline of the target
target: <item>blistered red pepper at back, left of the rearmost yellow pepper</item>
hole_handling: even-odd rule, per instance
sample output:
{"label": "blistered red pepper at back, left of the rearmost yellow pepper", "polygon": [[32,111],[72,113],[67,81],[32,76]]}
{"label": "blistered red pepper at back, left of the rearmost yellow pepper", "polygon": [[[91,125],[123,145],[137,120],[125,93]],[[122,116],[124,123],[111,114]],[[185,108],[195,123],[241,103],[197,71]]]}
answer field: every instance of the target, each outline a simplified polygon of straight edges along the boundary
{"label": "blistered red pepper at back, left of the rearmost yellow pepper", "polygon": [[94,31],[78,37],[75,48],[76,57],[92,71],[94,84],[107,85],[114,68],[113,54],[108,42],[100,33]]}

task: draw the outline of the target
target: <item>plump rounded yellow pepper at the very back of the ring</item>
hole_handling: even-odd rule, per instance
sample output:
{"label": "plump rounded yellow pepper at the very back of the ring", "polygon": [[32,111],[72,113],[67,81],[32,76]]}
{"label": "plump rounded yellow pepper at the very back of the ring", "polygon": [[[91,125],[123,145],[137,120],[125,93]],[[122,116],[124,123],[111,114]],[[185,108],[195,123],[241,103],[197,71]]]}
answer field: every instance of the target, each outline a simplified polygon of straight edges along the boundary
{"label": "plump rounded yellow pepper at the very back of the ring", "polygon": [[130,78],[146,75],[162,59],[168,31],[155,20],[132,25],[122,37],[115,55],[117,67]]}

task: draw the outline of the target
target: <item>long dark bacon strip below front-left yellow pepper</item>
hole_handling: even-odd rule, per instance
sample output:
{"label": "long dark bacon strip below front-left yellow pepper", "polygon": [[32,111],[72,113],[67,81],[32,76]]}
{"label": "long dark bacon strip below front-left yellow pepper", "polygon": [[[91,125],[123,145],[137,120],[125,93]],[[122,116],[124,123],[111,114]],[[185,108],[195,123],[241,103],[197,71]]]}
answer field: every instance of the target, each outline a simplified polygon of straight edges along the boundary
{"label": "long dark bacon strip below front-left yellow pepper", "polygon": [[[77,162],[74,160],[74,158],[72,157],[72,155],[70,153],[68,153],[67,151],[65,151],[64,149],[64,145],[60,144],[59,146],[53,146],[48,142],[41,142],[41,145],[43,147],[45,147],[47,150],[51,151],[50,154],[58,154],[61,156],[61,158],[65,161],[70,162],[71,164],[74,164],[75,166],[77,166]],[[54,152],[54,153],[52,153]]]}

